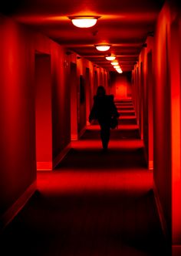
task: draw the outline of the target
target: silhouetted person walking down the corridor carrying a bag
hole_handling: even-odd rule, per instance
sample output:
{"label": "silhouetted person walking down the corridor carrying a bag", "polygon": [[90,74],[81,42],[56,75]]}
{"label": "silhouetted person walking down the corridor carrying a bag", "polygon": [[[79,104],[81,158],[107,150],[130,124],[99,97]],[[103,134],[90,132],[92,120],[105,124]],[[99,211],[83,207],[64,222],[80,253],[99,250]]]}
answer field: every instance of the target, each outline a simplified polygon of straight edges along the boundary
{"label": "silhouetted person walking down the corridor carrying a bag", "polygon": [[104,150],[107,150],[110,140],[110,119],[112,116],[116,116],[117,118],[120,116],[114,104],[114,95],[106,95],[104,86],[98,86],[89,121],[91,123],[92,120],[98,120],[100,138]]}

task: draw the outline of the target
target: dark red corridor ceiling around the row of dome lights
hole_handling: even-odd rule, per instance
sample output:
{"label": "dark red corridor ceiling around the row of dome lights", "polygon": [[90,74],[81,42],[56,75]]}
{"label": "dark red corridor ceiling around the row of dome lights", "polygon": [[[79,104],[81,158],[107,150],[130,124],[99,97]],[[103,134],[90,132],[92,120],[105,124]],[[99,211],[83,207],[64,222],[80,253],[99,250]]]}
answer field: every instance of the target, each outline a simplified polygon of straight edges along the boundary
{"label": "dark red corridor ceiling around the row of dome lights", "polygon": [[[18,22],[35,27],[70,51],[91,60],[97,66],[114,70],[105,59],[115,54],[123,71],[130,71],[147,35],[153,35],[163,0],[7,0],[0,12]],[[2,6],[1,6],[2,5]],[[10,7],[11,6],[11,7]],[[70,15],[99,15],[97,24],[79,29]],[[111,44],[108,52],[98,52],[94,44]]]}

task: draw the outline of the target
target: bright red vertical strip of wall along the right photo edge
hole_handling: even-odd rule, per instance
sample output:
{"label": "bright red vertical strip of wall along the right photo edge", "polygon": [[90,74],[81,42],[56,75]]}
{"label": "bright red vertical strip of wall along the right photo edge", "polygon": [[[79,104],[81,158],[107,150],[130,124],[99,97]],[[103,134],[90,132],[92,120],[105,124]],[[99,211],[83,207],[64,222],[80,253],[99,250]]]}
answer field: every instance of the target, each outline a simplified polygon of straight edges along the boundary
{"label": "bright red vertical strip of wall along the right photo edge", "polygon": [[[181,71],[181,22],[173,15],[169,40],[171,82],[171,139],[172,139],[172,227],[173,243],[181,242],[181,120],[180,120],[180,71]],[[179,109],[179,110],[178,110]]]}

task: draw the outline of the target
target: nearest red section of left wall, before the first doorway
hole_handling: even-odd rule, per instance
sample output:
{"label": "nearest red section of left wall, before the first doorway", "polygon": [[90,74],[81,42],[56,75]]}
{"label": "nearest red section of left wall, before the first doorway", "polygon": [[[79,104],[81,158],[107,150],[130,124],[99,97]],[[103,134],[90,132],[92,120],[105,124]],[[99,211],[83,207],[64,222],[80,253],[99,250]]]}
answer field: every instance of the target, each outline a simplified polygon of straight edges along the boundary
{"label": "nearest red section of left wall, before the first doorway", "polygon": [[31,35],[0,18],[0,214],[36,179],[35,87]]}

